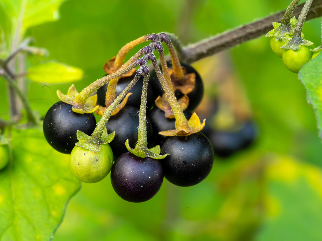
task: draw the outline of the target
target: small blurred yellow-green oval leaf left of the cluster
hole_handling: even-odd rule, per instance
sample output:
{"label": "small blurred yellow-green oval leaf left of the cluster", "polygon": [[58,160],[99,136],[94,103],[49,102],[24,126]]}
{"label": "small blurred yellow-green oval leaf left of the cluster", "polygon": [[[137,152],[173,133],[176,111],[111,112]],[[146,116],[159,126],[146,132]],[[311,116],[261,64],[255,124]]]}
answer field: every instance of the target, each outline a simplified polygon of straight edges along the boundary
{"label": "small blurred yellow-green oval leaf left of the cluster", "polygon": [[27,77],[35,82],[62,84],[82,79],[83,70],[63,63],[50,61],[28,69]]}

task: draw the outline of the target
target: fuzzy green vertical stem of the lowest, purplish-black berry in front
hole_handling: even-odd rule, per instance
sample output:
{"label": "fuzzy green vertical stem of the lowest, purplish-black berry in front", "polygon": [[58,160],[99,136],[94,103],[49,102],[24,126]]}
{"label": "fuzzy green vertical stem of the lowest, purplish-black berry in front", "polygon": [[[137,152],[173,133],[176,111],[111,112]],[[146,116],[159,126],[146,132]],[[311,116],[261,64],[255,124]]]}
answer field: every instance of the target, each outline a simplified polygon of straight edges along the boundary
{"label": "fuzzy green vertical stem of the lowest, purplish-black berry in front", "polygon": [[150,75],[144,75],[136,147],[147,149],[147,86]]}

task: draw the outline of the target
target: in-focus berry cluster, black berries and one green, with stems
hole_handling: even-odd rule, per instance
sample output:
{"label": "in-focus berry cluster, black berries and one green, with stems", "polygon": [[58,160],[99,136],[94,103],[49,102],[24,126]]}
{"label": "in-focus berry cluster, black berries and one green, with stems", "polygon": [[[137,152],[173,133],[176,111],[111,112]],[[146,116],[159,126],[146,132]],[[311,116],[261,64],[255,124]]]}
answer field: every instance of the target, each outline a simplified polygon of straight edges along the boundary
{"label": "in-focus berry cluster, black berries and one green, with stems", "polygon": [[[127,52],[148,40],[151,43],[124,64]],[[162,42],[171,62],[166,62]],[[205,120],[201,123],[192,112],[204,86],[196,70],[179,61],[169,35],[134,40],[103,68],[107,75],[81,93],[73,85],[66,95],[57,91],[62,101],[44,118],[45,138],[57,151],[71,154],[75,176],[95,183],[111,171],[115,192],[131,202],[151,199],[164,177],[179,186],[203,181],[212,169],[214,151],[199,132]],[[93,112],[102,116],[98,124]]]}

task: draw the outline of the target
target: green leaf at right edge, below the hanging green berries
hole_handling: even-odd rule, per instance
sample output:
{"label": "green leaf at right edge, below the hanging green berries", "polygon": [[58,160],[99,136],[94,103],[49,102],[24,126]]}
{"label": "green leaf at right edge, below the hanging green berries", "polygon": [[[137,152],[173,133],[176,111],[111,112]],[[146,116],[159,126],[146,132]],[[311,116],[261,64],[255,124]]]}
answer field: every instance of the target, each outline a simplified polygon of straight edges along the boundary
{"label": "green leaf at right edge, below the hanging green berries", "polygon": [[322,55],[306,63],[299,71],[298,78],[306,89],[308,103],[313,107],[317,119],[319,136],[322,138]]}

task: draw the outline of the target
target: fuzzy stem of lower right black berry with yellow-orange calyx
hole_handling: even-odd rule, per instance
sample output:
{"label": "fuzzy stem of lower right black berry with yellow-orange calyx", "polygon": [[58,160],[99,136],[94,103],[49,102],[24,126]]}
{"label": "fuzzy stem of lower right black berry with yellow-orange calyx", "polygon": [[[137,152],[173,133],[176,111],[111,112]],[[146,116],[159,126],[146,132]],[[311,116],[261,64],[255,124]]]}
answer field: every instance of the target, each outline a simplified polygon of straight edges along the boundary
{"label": "fuzzy stem of lower right black berry with yellow-orange calyx", "polygon": [[171,106],[171,109],[175,115],[176,125],[181,126],[181,127],[185,127],[185,128],[189,128],[188,121],[185,118],[185,115],[179,105],[179,102],[175,98],[175,94],[171,91],[171,89],[167,85],[166,80],[161,73],[158,62],[156,61],[156,58],[154,55],[153,55],[153,57],[154,58],[150,57],[150,60],[151,60],[153,67],[156,71],[156,76],[159,78],[160,83],[163,87],[163,90],[166,93],[166,99],[168,100],[168,102]]}

